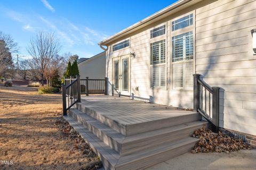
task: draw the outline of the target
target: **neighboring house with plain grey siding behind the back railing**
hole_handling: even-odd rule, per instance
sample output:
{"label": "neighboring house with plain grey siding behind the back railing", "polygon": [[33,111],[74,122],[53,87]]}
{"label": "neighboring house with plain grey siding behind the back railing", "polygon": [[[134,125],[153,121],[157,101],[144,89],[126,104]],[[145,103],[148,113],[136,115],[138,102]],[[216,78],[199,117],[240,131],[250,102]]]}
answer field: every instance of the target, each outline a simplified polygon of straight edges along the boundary
{"label": "neighboring house with plain grey siding behind the back railing", "polygon": [[106,52],[99,53],[91,58],[78,60],[78,69],[81,79],[104,79],[106,77]]}

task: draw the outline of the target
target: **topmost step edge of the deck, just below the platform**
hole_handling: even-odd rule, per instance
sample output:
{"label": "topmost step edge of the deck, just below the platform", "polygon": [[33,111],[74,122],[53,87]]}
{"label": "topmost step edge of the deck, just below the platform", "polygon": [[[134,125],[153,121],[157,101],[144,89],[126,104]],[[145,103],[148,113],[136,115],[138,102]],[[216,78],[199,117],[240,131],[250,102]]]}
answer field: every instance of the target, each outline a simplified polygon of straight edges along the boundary
{"label": "topmost step edge of the deck, just below the platform", "polygon": [[154,131],[156,129],[162,129],[201,120],[201,115],[196,112],[187,111],[186,114],[183,113],[182,115],[182,111],[179,111],[177,114],[173,113],[172,116],[168,118],[134,124],[123,124],[115,120],[115,117],[106,116],[107,114],[105,114],[105,112],[96,111],[95,108],[87,107],[83,103],[76,103],[76,108],[84,112],[86,115],[97,119],[100,123],[115,129],[115,131],[123,134],[124,136],[131,136],[144,132]]}

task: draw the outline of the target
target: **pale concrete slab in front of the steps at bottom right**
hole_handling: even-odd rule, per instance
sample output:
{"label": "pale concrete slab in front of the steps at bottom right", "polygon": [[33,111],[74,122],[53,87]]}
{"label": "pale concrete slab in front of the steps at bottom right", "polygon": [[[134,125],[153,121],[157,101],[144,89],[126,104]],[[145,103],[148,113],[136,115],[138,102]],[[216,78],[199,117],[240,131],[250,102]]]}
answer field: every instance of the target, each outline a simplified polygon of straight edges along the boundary
{"label": "pale concrete slab in front of the steps at bottom right", "polygon": [[227,153],[185,153],[147,170],[250,170],[256,169],[256,150]]}

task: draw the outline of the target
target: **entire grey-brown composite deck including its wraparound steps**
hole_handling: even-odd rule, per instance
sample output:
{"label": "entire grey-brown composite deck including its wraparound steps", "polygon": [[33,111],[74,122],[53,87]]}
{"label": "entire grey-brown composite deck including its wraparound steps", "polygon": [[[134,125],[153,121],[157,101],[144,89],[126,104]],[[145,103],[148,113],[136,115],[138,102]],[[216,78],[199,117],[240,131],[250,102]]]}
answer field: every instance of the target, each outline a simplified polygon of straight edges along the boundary
{"label": "entire grey-brown composite deck including its wraparound steps", "polygon": [[145,169],[190,151],[207,122],[197,112],[108,95],[82,96],[64,118],[105,169]]}

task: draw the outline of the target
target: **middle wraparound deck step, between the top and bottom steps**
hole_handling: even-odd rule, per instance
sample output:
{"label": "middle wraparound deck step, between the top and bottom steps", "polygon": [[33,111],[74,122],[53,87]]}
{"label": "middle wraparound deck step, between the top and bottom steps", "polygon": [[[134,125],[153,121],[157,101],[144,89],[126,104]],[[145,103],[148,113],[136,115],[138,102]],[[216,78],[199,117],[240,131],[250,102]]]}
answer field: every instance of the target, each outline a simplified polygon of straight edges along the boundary
{"label": "middle wraparound deck step, between the top and bottom steps", "polygon": [[207,126],[207,122],[195,121],[155,131],[124,136],[78,109],[70,109],[69,115],[120,155],[128,155],[160,144],[170,143],[190,136],[196,129],[202,126]]}

